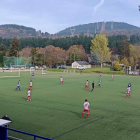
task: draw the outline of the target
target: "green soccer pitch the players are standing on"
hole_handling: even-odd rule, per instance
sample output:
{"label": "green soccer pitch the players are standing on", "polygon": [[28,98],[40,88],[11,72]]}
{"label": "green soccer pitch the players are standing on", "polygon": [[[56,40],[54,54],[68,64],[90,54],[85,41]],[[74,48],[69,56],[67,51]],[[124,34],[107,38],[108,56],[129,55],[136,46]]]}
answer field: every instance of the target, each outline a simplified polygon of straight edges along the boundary
{"label": "green soccer pitch the players are standing on", "polygon": [[[60,85],[60,77],[64,85]],[[139,140],[140,139],[140,78],[102,75],[101,88],[97,87],[99,75],[47,72],[35,74],[22,72],[20,78],[0,79],[0,116],[7,114],[11,128],[35,133],[55,140]],[[15,91],[21,80],[21,91]],[[33,81],[31,102],[27,90]],[[89,89],[84,89],[89,80]],[[95,89],[91,92],[91,83]],[[125,98],[131,82],[131,98]],[[89,119],[83,118],[84,100],[90,103]],[[31,140],[14,132],[9,135]]]}

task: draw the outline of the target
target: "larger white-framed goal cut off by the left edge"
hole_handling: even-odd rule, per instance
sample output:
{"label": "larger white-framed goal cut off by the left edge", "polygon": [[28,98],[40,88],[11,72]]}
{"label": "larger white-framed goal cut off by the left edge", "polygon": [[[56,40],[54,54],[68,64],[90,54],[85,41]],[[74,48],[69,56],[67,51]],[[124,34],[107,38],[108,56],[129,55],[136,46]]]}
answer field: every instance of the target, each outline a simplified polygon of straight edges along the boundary
{"label": "larger white-framed goal cut off by the left edge", "polygon": [[0,68],[0,78],[20,77],[20,69]]}

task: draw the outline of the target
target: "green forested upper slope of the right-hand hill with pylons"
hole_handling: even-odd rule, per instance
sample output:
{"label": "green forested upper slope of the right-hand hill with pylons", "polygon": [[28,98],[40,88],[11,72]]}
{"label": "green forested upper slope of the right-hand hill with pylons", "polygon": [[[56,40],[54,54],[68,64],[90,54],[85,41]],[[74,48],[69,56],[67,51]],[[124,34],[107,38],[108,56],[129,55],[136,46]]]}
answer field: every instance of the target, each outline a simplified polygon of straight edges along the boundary
{"label": "green forested upper slope of the right-hand hill with pylons", "polygon": [[[71,35],[72,29],[75,29],[74,34],[100,33],[103,23],[104,22],[98,22],[98,23],[96,22],[96,23],[77,25],[77,26],[66,28],[65,30],[60,31],[58,34],[59,34],[59,36]],[[128,30],[129,32],[131,32],[133,30],[139,30],[139,32],[140,32],[139,27],[136,27],[136,26],[124,23],[124,22],[106,22],[105,23],[105,31],[112,32],[112,31],[116,31],[116,30],[119,30],[119,31]]]}

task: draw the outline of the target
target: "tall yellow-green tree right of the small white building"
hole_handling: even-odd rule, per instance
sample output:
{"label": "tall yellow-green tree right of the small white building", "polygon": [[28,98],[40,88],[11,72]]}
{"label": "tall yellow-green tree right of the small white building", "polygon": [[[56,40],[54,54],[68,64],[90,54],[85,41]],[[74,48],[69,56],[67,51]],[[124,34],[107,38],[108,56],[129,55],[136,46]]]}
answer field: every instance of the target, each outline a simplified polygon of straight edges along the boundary
{"label": "tall yellow-green tree right of the small white building", "polygon": [[91,40],[90,52],[93,54],[94,51],[97,51],[100,64],[102,67],[103,62],[110,61],[111,52],[108,46],[108,39],[104,34],[97,34],[94,39]]}

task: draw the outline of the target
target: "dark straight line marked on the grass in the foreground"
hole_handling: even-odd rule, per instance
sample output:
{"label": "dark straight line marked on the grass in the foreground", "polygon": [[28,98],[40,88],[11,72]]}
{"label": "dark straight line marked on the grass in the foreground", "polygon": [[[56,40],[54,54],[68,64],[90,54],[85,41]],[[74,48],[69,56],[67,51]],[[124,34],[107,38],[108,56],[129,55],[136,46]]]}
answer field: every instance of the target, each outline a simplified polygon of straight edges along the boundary
{"label": "dark straight line marked on the grass in the foreground", "polygon": [[84,126],[87,126],[87,125],[89,125],[89,124],[91,124],[91,123],[97,122],[97,121],[99,121],[99,120],[101,120],[101,119],[103,119],[103,118],[104,118],[104,117],[100,117],[100,118],[98,118],[98,119],[96,119],[96,120],[93,120],[93,121],[91,121],[91,122],[89,122],[89,123],[86,123],[86,124],[84,124],[84,125],[81,125],[81,126],[79,126],[79,127],[74,128],[74,129],[72,129],[72,130],[70,130],[70,131],[67,131],[67,132],[65,132],[65,133],[63,133],[63,134],[60,134],[60,135],[58,135],[58,136],[56,136],[56,137],[54,137],[54,138],[52,138],[52,139],[59,138],[59,137],[61,137],[61,136],[63,136],[63,135],[66,135],[66,134],[72,132],[72,131],[75,131],[75,130],[77,130],[77,129],[80,129],[80,128],[82,128],[82,127],[84,127]]}

